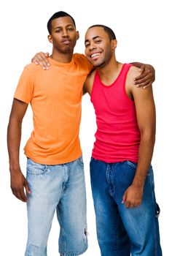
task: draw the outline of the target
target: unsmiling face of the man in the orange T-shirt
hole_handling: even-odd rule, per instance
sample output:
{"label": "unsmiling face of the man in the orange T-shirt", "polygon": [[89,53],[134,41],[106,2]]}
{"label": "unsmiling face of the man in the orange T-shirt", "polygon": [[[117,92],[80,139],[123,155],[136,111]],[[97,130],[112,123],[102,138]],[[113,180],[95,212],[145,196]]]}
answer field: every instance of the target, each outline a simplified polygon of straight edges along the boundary
{"label": "unsmiling face of the man in the orange T-shirt", "polygon": [[52,20],[51,34],[48,36],[53,47],[61,53],[73,53],[79,33],[69,16]]}

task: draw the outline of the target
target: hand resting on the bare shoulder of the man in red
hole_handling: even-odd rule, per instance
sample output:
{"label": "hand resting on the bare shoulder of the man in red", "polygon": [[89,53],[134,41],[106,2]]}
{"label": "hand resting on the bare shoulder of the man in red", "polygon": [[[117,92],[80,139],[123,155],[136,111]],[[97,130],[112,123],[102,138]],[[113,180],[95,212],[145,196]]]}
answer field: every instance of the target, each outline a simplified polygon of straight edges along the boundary
{"label": "hand resting on the bare shoulder of the man in red", "polygon": [[138,77],[134,79],[134,84],[137,87],[146,89],[146,87],[151,86],[155,81],[155,69],[149,64],[142,64],[140,71],[141,75],[138,75]]}

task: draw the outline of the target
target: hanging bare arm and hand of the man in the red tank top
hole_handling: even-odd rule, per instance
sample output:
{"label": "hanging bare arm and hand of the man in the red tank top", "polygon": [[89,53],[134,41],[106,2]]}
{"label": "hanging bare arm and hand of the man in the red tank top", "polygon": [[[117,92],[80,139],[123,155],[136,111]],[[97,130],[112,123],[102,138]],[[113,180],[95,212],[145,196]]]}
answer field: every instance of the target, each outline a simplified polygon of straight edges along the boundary
{"label": "hanging bare arm and hand of the man in the red tank top", "polygon": [[141,204],[144,182],[149,170],[155,144],[155,102],[152,86],[146,90],[131,87],[131,93],[136,105],[138,127],[141,132],[141,142],[138,151],[136,175],[131,186],[125,191],[123,203],[126,207],[136,207]]}

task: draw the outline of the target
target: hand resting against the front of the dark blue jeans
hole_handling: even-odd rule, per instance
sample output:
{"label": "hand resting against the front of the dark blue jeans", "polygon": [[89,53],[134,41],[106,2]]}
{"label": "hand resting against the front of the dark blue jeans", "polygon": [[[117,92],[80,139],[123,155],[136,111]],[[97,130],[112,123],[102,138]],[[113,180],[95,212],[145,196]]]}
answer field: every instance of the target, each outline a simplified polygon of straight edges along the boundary
{"label": "hand resting against the front of the dark blue jeans", "polygon": [[142,198],[143,187],[137,187],[132,184],[125,190],[122,197],[122,203],[124,203],[127,208],[133,208],[141,205]]}

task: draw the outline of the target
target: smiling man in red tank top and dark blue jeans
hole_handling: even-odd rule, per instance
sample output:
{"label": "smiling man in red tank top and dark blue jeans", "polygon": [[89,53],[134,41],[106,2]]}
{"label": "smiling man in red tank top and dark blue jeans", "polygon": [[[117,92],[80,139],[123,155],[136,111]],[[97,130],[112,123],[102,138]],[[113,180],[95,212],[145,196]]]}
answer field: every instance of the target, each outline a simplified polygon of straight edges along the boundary
{"label": "smiling man in red tank top and dark blue jeans", "polygon": [[116,48],[112,29],[95,25],[87,30],[85,54],[96,67],[85,81],[85,92],[98,126],[90,161],[98,244],[101,256],[161,256],[151,165],[152,86],[133,86],[139,69],[118,62]]}

